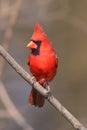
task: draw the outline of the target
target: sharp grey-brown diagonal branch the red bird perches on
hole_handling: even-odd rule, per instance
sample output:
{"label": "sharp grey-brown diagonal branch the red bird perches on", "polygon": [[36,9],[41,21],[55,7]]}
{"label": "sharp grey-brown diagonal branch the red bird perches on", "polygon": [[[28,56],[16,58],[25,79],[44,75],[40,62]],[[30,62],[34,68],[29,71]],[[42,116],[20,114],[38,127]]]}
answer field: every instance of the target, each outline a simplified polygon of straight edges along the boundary
{"label": "sharp grey-brown diagonal branch the red bird perches on", "polygon": [[53,95],[47,95],[48,91],[38,82],[34,82],[32,77],[10,56],[10,54],[0,45],[0,55],[11,65],[12,68],[30,85],[42,94],[72,125],[76,130],[87,130]]}

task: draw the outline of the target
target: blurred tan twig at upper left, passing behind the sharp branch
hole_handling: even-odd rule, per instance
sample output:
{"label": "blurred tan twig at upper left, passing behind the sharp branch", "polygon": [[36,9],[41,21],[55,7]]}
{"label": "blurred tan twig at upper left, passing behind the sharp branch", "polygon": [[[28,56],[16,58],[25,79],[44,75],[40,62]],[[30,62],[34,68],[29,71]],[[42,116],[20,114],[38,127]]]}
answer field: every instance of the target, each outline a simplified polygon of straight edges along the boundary
{"label": "blurred tan twig at upper left, passing behind the sharp branch", "polygon": [[[8,46],[10,43],[10,40],[13,36],[13,28],[16,24],[20,9],[21,9],[21,5],[22,5],[22,0],[16,0],[16,2],[14,3],[13,7],[10,10],[10,15],[9,15],[9,21],[8,21],[8,25],[7,28],[5,30],[5,34],[4,34],[4,40],[2,42],[2,46],[8,50]],[[4,62],[3,59],[0,57],[0,60],[2,61],[2,64],[0,64],[0,77],[2,75],[2,71],[3,71],[3,67],[4,67]]]}

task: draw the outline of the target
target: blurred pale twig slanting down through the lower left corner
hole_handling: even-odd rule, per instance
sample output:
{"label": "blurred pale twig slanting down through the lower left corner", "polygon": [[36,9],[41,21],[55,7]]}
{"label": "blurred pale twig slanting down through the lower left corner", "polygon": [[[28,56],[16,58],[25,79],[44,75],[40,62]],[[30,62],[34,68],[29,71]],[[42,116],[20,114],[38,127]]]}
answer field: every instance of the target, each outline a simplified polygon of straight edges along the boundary
{"label": "blurred pale twig slanting down through the lower left corner", "polygon": [[[16,121],[16,123],[20,127],[22,127],[24,130],[33,130],[33,128],[30,125],[28,125],[25,118],[21,115],[21,113],[18,111],[18,109],[12,103],[11,99],[9,98],[9,96],[4,88],[4,84],[1,81],[0,81],[0,98],[3,101],[9,115]],[[7,115],[7,117],[8,117],[8,115]]]}

